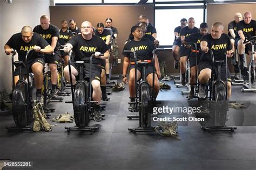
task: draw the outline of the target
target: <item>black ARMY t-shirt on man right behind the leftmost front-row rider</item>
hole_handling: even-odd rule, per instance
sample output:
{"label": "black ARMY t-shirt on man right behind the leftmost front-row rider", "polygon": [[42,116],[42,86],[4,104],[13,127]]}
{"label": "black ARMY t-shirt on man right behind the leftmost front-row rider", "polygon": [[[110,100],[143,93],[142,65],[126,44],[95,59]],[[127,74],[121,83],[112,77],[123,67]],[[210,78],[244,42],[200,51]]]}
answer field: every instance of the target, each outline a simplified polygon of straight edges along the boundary
{"label": "black ARMY t-shirt on man right behind the leftmost front-row rider", "polygon": [[[33,32],[37,32],[40,34],[50,45],[51,45],[51,38],[58,37],[59,38],[59,29],[57,26],[50,24],[47,30],[43,30],[41,25],[35,26]],[[55,51],[59,48],[58,43],[55,47]]]}

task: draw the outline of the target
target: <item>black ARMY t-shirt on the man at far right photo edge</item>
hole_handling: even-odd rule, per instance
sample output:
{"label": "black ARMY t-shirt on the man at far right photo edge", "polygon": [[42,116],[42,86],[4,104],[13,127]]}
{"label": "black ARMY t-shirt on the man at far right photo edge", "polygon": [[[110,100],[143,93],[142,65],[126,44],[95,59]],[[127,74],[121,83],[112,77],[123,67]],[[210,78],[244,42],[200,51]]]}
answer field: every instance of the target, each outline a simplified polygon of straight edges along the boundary
{"label": "black ARMY t-shirt on the man at far right photo edge", "polygon": [[[246,39],[249,39],[255,36],[256,31],[256,20],[251,20],[250,24],[245,24],[244,20],[241,20],[237,23],[237,32],[242,31]],[[238,33],[235,35],[235,38],[240,38]]]}

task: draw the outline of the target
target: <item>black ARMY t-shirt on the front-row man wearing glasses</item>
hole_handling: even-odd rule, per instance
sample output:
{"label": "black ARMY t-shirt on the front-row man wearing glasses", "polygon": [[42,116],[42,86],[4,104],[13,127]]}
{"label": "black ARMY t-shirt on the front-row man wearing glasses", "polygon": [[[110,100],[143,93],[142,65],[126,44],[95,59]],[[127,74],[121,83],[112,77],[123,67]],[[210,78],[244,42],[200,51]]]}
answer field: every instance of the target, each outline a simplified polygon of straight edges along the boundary
{"label": "black ARMY t-shirt on the front-row man wearing glasses", "polygon": [[[92,36],[90,40],[85,40],[82,34],[72,37],[69,42],[75,51],[75,61],[85,61],[90,63],[90,56],[95,52],[105,53],[109,48],[98,36]],[[99,58],[92,58],[92,63],[99,64]]]}

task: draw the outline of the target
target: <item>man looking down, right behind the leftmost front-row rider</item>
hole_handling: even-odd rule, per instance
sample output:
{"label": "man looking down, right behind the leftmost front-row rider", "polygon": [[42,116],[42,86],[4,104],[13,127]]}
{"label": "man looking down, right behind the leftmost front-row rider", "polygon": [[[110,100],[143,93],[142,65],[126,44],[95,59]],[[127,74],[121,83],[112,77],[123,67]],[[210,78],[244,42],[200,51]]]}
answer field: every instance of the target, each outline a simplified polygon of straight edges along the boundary
{"label": "man looking down, right behind the leftmost front-row rider", "polygon": [[43,15],[40,18],[40,25],[35,26],[33,32],[41,34],[41,36],[54,49],[53,54],[45,54],[45,61],[46,63],[49,63],[49,68],[51,70],[51,97],[55,98],[58,96],[56,86],[58,81],[57,65],[59,64],[59,52],[57,51],[59,48],[59,29],[57,26],[50,24],[50,19],[48,16]]}

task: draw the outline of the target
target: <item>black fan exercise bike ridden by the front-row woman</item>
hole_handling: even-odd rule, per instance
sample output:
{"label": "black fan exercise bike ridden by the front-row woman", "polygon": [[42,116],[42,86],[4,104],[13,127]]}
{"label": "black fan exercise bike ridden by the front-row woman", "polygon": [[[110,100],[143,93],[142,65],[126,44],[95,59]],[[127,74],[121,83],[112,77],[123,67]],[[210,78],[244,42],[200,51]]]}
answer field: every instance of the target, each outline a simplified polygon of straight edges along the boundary
{"label": "black fan exercise bike ridden by the front-row woman", "polygon": [[[151,126],[151,114],[152,114],[152,105],[156,103],[156,98],[154,97],[154,59],[156,57],[157,51],[164,51],[164,48],[157,48],[153,50],[153,83],[152,88],[150,87],[149,83],[146,80],[145,70],[147,65],[151,62],[151,60],[139,60],[137,61],[137,54],[134,51],[124,51],[125,53],[133,53],[134,55],[134,69],[135,69],[135,80],[137,80],[137,65],[142,65],[143,72],[142,72],[142,81],[137,84],[135,81],[135,89],[136,89],[136,96],[135,102],[129,102],[129,104],[135,104],[136,109],[135,111],[139,111],[139,115],[128,115],[127,118],[139,118],[139,127],[138,128],[128,128],[129,131],[136,133],[136,132],[152,132],[154,131],[154,127]],[[139,97],[138,97],[139,93]],[[139,108],[139,110],[138,110]]]}

